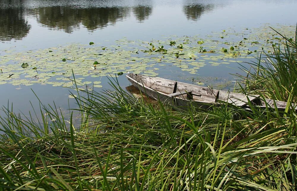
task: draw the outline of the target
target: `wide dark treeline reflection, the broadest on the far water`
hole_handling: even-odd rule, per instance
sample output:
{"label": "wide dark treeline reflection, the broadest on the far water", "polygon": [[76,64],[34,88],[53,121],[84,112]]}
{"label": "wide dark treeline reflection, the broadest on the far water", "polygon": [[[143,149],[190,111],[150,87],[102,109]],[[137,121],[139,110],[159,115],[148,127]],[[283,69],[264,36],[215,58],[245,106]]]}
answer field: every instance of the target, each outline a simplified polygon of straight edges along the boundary
{"label": "wide dark treeline reflection, the broadest on the far water", "polygon": [[99,7],[75,9],[71,7],[42,7],[32,11],[37,22],[49,28],[64,30],[72,33],[80,24],[89,30],[104,28],[113,25],[118,20],[129,16],[126,7]]}

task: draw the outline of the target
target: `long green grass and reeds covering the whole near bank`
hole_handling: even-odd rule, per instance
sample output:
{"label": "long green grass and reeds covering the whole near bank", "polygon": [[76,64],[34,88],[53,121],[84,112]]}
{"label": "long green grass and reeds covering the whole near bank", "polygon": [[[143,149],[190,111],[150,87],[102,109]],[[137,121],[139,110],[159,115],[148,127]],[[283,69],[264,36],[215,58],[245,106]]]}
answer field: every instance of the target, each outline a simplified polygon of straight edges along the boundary
{"label": "long green grass and reeds covering the whole near bank", "polygon": [[[237,91],[296,103],[297,41],[282,37],[284,49],[242,66]],[[117,79],[110,84],[72,94],[79,109],[70,120],[55,106],[41,104],[28,118],[7,108],[0,190],[297,189],[297,115],[289,106],[180,109],[136,98]]]}

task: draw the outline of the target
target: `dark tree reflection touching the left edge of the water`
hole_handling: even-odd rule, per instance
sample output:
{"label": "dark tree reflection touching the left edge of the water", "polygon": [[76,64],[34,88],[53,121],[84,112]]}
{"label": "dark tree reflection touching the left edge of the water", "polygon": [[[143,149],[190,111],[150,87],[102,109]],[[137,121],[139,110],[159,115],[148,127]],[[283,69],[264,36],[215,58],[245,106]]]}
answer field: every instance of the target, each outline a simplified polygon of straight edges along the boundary
{"label": "dark tree reflection touching the left edge of the water", "polygon": [[30,28],[23,9],[0,8],[0,41],[20,40],[27,36]]}

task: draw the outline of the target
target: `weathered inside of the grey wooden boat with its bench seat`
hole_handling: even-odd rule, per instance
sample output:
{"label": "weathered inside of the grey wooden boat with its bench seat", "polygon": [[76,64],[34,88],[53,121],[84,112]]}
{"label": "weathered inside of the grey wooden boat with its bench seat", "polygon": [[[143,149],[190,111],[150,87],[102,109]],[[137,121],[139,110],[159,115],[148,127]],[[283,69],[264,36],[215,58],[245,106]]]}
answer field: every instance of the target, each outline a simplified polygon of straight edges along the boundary
{"label": "weathered inside of the grey wooden boat with its bench seat", "polygon": [[278,108],[284,109],[287,104],[287,102],[284,101],[274,101],[270,99],[265,99],[264,101],[259,95],[232,93],[229,91],[216,90],[209,87],[191,85],[159,77],[149,77],[141,74],[129,74],[128,76],[144,87],[151,88],[152,90],[174,98],[205,103],[225,101],[241,107],[247,105],[248,102],[251,102],[253,105],[260,107],[266,107],[267,103],[272,108],[277,106]]}

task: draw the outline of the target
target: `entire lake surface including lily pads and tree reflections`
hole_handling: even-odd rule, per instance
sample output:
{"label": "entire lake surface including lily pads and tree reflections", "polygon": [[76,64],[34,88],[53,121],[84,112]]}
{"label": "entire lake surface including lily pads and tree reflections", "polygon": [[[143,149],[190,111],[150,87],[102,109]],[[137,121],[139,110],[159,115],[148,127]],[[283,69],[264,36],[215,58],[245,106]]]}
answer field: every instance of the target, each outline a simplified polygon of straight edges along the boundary
{"label": "entire lake surface including lily pads and tree reflections", "polygon": [[[81,83],[91,87],[96,82],[96,91],[110,88],[106,71],[113,75],[120,71],[148,72],[189,83],[227,82],[233,86],[230,73],[242,72],[238,61],[253,61],[255,51],[269,46],[262,45],[273,37],[268,26],[290,26],[283,31],[289,35],[293,32],[296,4],[294,0],[0,0],[0,105],[13,103],[15,112],[28,114],[31,103],[39,106],[34,91],[43,104],[54,101],[62,109],[75,107],[74,100],[68,98],[70,82],[63,87],[65,80],[72,78],[71,69]],[[241,58],[236,52],[218,54],[222,47],[229,53],[229,47],[241,44],[244,38],[255,41],[245,42],[248,46],[238,52],[252,50],[252,54]],[[170,41],[176,44],[169,46]],[[150,43],[156,50],[164,45],[168,53],[149,52],[154,48]],[[179,44],[184,47],[177,47]],[[190,48],[192,44],[195,49]],[[211,54],[212,50],[216,53]],[[126,56],[121,57],[121,52]],[[179,58],[174,52],[179,52]],[[197,61],[192,63],[194,59]],[[95,61],[97,71],[92,71]],[[121,61],[122,65],[112,67]],[[28,67],[22,68],[26,62]],[[80,65],[82,62],[89,63]],[[122,87],[129,85],[124,75],[118,79]]]}

